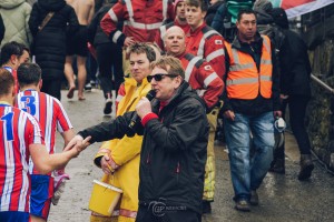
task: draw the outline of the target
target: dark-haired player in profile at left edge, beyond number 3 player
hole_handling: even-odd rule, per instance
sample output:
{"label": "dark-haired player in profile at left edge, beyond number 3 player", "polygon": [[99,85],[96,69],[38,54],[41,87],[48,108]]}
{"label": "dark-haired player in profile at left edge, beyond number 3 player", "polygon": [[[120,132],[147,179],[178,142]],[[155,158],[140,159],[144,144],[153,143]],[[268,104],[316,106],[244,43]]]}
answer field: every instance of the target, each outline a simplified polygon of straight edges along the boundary
{"label": "dark-haired player in profile at left edge, beyond number 3 player", "polygon": [[[28,56],[27,56],[28,53]],[[12,73],[14,78],[14,92],[19,92],[19,84],[17,79],[17,69],[20,63],[29,60],[29,50],[24,48],[23,44],[18,42],[9,42],[6,43],[0,52],[0,63],[1,67],[7,69],[10,73]]]}

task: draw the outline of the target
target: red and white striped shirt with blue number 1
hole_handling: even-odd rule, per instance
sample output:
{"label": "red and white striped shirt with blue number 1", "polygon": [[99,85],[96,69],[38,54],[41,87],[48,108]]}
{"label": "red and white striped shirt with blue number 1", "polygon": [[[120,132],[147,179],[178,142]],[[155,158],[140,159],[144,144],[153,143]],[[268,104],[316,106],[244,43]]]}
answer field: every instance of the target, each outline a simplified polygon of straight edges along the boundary
{"label": "red and white striped shirt with blue number 1", "polygon": [[29,212],[29,145],[43,144],[37,120],[0,103],[0,212]]}

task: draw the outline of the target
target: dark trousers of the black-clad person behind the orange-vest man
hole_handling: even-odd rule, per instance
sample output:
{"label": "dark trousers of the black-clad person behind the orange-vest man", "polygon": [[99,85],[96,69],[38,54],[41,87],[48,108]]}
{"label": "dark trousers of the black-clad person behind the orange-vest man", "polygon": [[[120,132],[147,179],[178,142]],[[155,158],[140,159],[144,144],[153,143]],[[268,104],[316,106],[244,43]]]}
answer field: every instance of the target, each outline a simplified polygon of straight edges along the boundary
{"label": "dark trousers of the black-clad person behind the orange-vest man", "polygon": [[[311,143],[305,127],[306,107],[310,101],[308,97],[289,95],[282,103],[283,117],[285,117],[286,105],[289,111],[289,123],[296,138],[301,154],[311,154]],[[284,159],[284,144],[275,150],[275,158]]]}

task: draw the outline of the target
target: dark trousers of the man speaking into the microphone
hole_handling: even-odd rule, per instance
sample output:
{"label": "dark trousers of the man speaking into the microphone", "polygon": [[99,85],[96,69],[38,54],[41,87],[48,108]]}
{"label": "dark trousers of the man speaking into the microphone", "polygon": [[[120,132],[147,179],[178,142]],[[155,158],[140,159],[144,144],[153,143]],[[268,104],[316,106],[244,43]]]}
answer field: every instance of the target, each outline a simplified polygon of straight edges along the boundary
{"label": "dark trousers of the man speaking into the microphone", "polygon": [[159,211],[159,206],[161,205],[139,205],[136,222],[202,222],[202,215],[195,211]]}

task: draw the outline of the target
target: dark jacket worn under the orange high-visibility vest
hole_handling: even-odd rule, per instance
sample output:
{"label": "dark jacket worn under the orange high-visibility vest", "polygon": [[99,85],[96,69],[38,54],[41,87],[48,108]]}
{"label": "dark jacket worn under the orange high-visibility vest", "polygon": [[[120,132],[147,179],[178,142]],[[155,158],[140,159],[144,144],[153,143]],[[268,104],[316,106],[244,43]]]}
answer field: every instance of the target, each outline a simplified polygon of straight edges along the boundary
{"label": "dark jacket worn under the orange high-visibility vest", "polygon": [[[232,42],[232,47],[248,53],[252,56],[254,59],[257,70],[259,70],[261,65],[261,57],[262,57],[262,44],[263,44],[263,39],[261,36],[257,33],[255,41],[252,42],[250,44],[246,42],[240,42],[238,38],[236,37],[234,41]],[[227,92],[225,90],[223,100],[224,100],[224,107],[222,109],[223,112],[227,110],[232,110],[237,113],[243,113],[243,114],[262,114],[265,112],[269,111],[277,111],[281,109],[281,102],[279,102],[279,73],[276,67],[276,59],[275,59],[275,50],[274,47],[272,46],[272,63],[273,63],[273,93],[271,99],[265,99],[258,93],[258,95],[253,99],[253,100],[242,100],[242,99],[228,99]],[[226,74],[225,77],[227,78],[228,71],[229,71],[229,54],[225,50],[225,65],[226,65]],[[225,79],[226,83],[226,79]]]}

